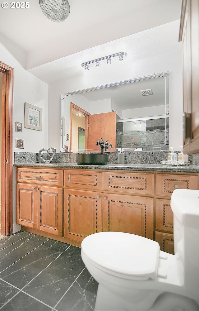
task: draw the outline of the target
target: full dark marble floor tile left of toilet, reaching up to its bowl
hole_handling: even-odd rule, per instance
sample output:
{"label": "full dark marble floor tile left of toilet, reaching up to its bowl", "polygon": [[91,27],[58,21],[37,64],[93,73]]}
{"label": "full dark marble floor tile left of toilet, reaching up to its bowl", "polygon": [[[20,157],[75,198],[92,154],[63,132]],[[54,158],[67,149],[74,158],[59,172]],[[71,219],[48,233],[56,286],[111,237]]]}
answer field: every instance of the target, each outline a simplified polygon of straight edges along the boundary
{"label": "full dark marble floor tile left of toilet, reaching up to its bowl", "polygon": [[54,307],[84,267],[81,248],[70,246],[23,290]]}

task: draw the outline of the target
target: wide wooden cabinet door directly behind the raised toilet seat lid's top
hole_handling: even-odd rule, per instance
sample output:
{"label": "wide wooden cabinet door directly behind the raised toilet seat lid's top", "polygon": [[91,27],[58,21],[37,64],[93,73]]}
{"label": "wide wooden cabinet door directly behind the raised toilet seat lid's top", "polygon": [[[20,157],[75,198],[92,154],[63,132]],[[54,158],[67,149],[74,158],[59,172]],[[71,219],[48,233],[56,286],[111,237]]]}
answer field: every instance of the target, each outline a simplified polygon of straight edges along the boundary
{"label": "wide wooden cabinet door directly behind the raised toilet seat lid's top", "polygon": [[153,198],[104,194],[103,231],[137,234],[153,240]]}

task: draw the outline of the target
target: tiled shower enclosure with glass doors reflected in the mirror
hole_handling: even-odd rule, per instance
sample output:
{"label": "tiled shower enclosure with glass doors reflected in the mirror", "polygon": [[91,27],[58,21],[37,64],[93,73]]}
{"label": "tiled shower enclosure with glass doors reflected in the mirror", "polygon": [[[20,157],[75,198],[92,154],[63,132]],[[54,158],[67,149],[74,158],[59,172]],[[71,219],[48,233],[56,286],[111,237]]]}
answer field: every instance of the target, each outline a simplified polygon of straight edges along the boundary
{"label": "tiled shower enclosure with glass doors reflected in the mirror", "polygon": [[117,120],[116,147],[169,150],[169,117]]}

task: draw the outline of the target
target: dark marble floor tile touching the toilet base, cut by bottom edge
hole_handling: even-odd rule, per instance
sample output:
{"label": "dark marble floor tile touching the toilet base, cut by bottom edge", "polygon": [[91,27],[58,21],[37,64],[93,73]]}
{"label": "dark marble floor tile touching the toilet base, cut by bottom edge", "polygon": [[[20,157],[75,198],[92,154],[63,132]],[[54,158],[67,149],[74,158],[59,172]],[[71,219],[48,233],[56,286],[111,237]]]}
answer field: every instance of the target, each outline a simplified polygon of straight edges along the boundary
{"label": "dark marble floor tile touching the toilet base, cut by bottom edge", "polygon": [[94,310],[97,288],[98,283],[85,268],[55,308],[59,311]]}

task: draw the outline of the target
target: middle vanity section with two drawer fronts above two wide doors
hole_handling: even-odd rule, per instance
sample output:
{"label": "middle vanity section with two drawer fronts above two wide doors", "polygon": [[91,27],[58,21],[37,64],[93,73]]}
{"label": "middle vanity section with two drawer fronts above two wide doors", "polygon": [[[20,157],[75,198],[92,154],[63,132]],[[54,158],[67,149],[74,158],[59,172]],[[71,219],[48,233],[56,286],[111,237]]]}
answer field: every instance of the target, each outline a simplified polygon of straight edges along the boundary
{"label": "middle vanity section with two drawer fronts above two wide doors", "polygon": [[65,170],[64,187],[64,237],[120,231],[153,239],[153,173]]}

